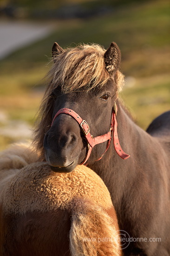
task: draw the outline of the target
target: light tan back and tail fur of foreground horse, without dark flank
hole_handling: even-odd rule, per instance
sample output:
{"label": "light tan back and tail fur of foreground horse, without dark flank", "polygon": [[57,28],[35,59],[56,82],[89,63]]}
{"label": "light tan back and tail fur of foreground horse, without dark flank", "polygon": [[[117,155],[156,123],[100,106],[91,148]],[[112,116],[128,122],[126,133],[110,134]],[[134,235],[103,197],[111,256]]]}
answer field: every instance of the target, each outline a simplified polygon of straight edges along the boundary
{"label": "light tan back and tail fur of foreground horse, without dark flank", "polygon": [[[85,166],[77,166],[71,173],[54,173],[46,162],[36,162],[39,156],[24,145],[15,145],[0,156],[3,216],[63,209],[72,216],[72,256],[121,254],[116,239],[117,223],[107,214],[112,207],[111,197],[96,173]],[[110,240],[98,241],[104,237]],[[92,241],[84,241],[91,238]]]}

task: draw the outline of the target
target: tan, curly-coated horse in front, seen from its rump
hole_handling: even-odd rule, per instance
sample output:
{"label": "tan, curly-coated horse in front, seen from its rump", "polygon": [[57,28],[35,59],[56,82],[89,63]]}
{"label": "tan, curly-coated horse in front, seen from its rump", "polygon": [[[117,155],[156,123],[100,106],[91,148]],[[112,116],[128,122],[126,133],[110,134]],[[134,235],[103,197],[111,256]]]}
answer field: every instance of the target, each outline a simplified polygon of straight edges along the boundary
{"label": "tan, curly-coated horse in front, seen from its rump", "polygon": [[0,256],[120,256],[101,178],[85,166],[57,174],[37,160],[24,145],[0,153]]}

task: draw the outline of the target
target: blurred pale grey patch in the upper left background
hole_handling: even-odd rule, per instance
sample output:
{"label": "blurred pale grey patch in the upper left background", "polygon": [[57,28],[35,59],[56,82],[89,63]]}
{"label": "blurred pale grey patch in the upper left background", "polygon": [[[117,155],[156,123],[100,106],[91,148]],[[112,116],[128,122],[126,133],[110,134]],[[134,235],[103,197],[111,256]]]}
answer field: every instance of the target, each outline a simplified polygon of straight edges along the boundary
{"label": "blurred pale grey patch in the upper left background", "polygon": [[33,41],[46,37],[53,26],[24,21],[0,21],[0,59],[29,45]]}

